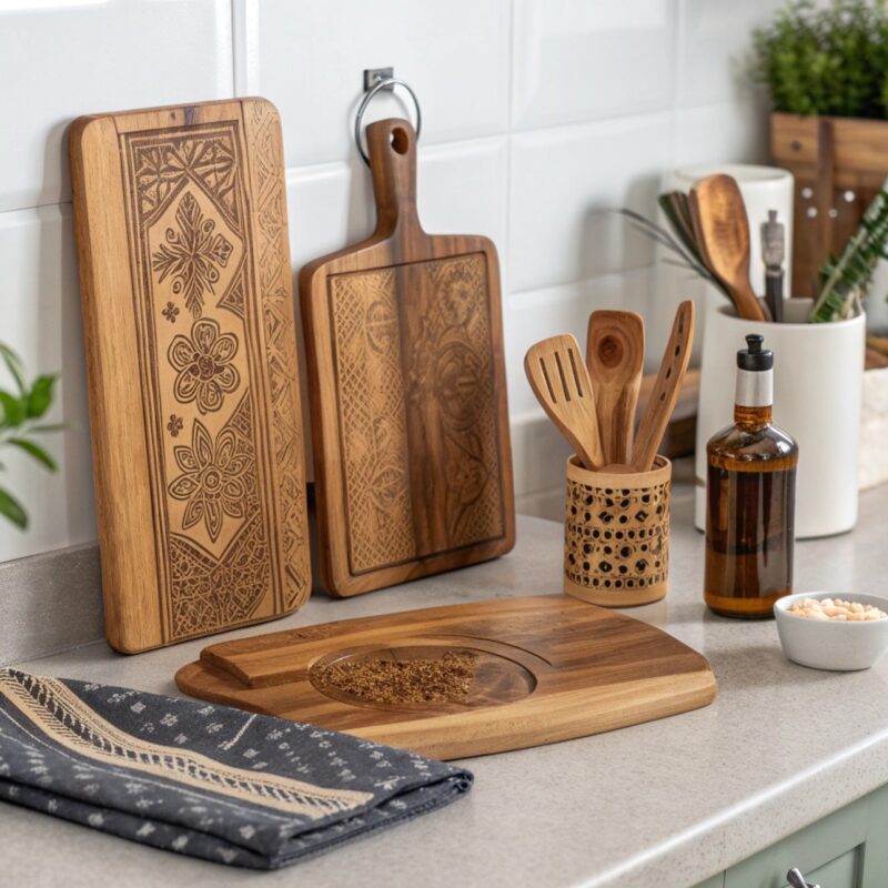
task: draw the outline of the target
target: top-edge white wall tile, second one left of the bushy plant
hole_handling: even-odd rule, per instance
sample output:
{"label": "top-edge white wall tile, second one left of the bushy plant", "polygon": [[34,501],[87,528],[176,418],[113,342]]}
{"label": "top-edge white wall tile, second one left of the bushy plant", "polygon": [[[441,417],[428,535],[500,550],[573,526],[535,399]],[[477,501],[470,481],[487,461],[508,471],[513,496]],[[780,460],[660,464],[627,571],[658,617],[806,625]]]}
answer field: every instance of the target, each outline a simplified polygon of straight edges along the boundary
{"label": "top-edge white wall tile, second one left of the bushy plant", "polygon": [[676,0],[515,0],[512,125],[670,107]]}

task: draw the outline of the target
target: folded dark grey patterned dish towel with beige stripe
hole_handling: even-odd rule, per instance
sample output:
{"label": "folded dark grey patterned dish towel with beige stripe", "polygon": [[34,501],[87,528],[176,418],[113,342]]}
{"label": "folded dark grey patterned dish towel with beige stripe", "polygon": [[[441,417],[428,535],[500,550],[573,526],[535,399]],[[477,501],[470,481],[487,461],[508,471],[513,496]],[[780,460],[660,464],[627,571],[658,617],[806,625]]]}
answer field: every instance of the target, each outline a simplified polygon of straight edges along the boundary
{"label": "folded dark grey patterned dish towel with beige stripe", "polygon": [[311,725],[0,669],[0,799],[157,848],[275,869],[471,786]]}

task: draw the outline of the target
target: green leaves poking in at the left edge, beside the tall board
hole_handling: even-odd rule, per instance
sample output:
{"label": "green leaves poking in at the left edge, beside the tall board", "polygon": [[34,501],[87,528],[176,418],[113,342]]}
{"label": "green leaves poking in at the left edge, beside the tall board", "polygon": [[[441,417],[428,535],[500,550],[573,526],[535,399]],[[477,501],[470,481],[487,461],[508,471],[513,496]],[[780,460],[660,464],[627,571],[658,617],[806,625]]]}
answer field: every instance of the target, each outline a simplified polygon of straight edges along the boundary
{"label": "green leaves poking in at the left edge, beside the tall board", "polygon": [[[58,471],[56,461],[34,441],[47,432],[58,432],[63,426],[40,422],[52,405],[58,373],[38,376],[30,385],[26,382],[21,359],[7,345],[0,343],[0,360],[12,376],[16,390],[0,389],[0,450],[12,447],[26,453],[50,472]],[[6,466],[0,463],[0,470]],[[28,513],[22,504],[4,487],[0,486],[0,516],[17,527],[28,526]]]}

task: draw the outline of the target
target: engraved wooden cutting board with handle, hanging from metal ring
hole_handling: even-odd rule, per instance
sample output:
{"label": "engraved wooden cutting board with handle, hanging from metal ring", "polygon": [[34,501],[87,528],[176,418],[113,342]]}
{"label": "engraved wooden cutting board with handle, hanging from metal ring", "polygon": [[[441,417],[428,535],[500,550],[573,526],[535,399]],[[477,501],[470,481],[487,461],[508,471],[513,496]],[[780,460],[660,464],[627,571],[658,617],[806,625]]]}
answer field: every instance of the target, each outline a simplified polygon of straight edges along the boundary
{"label": "engraved wooden cutting board with handle, hanging from metal ring", "polygon": [[405,120],[367,128],[376,230],[300,273],[320,561],[335,596],[515,539],[496,248],[423,231],[415,144]]}

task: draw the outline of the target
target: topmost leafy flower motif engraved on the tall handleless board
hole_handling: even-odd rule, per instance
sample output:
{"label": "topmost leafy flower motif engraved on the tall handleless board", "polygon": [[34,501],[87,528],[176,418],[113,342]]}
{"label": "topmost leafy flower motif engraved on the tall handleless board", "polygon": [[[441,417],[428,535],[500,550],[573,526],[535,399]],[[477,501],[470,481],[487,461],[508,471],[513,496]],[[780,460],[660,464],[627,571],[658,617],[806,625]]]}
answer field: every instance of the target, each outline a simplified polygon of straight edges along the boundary
{"label": "topmost leafy flower motif engraved on the tall handleless board", "polygon": [[203,311],[203,294],[213,293],[219,268],[225,268],[234,249],[224,235],[213,233],[215,220],[204,218],[194,195],[186,192],[175,211],[179,231],[168,228],[152,256],[151,268],[160,273],[159,283],[172,275],[173,293],[184,293],[185,307],[194,317]]}

